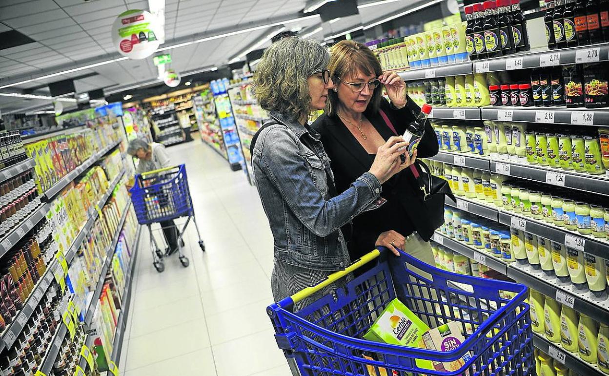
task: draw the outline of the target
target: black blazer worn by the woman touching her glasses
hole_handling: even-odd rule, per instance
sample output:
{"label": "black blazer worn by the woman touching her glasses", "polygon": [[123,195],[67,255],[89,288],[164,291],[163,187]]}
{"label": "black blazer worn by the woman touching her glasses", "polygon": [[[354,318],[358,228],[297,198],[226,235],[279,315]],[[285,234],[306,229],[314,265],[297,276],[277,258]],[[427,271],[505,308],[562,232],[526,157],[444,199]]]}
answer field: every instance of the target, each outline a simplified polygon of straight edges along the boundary
{"label": "black blazer worn by the woman touching her glasses", "polygon": [[[406,107],[395,110],[385,98],[381,101],[381,110],[390,119],[398,135],[404,134],[407,125],[414,121],[415,116],[421,111],[410,99]],[[395,135],[387,127],[380,113],[366,110],[364,115],[385,140]],[[375,155],[368,154],[338,116],[324,114],[313,123],[312,127],[322,137],[323,147],[331,159],[336,189],[339,193],[347,190],[357,177],[370,170]],[[417,158],[438,154],[438,141],[429,123],[417,150]],[[418,198],[415,191],[418,190],[418,183],[410,169],[393,176],[382,185],[382,189],[381,196],[387,199],[387,202],[380,208],[361,213],[353,219],[353,236],[348,243],[351,260],[373,250],[378,236],[389,230],[395,230],[404,236],[416,230],[428,241],[435,230],[429,224],[429,218],[443,216],[443,205],[440,208],[429,208],[422,199]]]}

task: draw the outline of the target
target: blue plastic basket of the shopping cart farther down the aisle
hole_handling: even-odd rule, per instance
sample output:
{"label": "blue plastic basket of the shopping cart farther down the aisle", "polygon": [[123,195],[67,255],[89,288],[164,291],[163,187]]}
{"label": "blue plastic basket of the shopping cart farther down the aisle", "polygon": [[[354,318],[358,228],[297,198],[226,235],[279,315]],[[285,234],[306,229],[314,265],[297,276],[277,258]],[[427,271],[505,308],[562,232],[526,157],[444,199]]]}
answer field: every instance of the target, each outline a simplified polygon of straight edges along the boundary
{"label": "blue plastic basket of the shopping cart farther down the aisle", "polygon": [[146,179],[136,175],[130,192],[139,224],[194,215],[185,165]]}

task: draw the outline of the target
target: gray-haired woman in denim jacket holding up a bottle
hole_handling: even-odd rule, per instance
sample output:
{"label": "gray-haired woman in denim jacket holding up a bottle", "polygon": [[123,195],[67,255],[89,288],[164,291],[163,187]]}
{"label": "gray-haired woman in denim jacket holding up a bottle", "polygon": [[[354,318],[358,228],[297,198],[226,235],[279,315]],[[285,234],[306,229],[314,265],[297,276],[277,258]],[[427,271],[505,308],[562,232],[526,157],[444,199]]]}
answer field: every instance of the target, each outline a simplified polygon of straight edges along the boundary
{"label": "gray-haired woman in denim jacket holding up a bottle", "polygon": [[[408,166],[401,160],[407,143],[392,137],[378,148],[369,171],[347,190],[336,191],[320,135],[306,122],[310,112],[325,108],[328,90],[334,87],[328,62],[328,51],[319,43],[283,38],[264,52],[253,77],[255,96],[270,115],[250,150],[256,187],[273,233],[271,289],[276,301],[350,263],[341,227],[362,211],[384,204],[379,200],[381,184]],[[328,286],[294,310],[336,287]]]}

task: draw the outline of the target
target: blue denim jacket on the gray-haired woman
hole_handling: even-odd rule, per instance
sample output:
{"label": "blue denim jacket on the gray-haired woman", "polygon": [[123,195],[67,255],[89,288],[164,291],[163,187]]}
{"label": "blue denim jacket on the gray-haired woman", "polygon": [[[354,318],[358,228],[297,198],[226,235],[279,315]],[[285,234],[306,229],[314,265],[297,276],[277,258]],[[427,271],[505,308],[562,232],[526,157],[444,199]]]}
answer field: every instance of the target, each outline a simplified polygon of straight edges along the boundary
{"label": "blue denim jacket on the gray-haired woman", "polygon": [[273,124],[259,132],[252,150],[252,168],[275,259],[308,269],[342,269],[348,252],[340,227],[381,204],[381,183],[365,172],[331,197],[334,175],[319,133],[281,113],[270,116]]}

